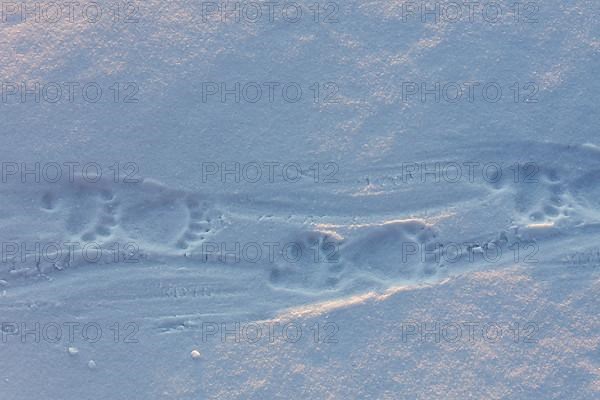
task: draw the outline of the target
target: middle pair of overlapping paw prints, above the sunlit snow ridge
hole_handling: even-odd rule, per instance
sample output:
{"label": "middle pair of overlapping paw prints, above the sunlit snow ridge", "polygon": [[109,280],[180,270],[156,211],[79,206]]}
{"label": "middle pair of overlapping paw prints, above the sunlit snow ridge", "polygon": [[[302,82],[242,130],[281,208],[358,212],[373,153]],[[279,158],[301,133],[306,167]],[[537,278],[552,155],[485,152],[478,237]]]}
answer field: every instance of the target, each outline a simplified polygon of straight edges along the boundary
{"label": "middle pair of overlapping paw prints, above the sunlit snow ridge", "polygon": [[[322,292],[351,288],[356,282],[362,286],[366,282],[368,287],[427,279],[439,270],[435,237],[433,228],[419,220],[351,228],[347,239],[335,233],[299,233],[295,242],[301,244],[303,257],[275,265],[270,283],[277,288]],[[320,259],[315,259],[316,250]]]}

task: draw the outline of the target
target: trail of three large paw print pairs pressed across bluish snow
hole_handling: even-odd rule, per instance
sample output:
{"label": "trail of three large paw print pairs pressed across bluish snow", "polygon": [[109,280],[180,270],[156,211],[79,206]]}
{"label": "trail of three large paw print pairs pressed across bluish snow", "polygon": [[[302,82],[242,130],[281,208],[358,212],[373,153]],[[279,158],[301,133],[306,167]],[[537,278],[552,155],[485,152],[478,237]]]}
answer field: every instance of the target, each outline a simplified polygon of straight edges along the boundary
{"label": "trail of three large paw print pairs pressed across bluish snow", "polygon": [[[600,203],[599,171],[575,180],[563,177],[562,169],[543,167],[536,181],[523,178],[515,183],[513,176],[506,176],[493,184],[492,193],[514,200],[514,213],[508,217],[514,217],[518,226],[571,223],[574,210],[594,214]],[[83,241],[133,240],[140,248],[152,248],[167,257],[193,250],[224,225],[223,215],[208,197],[152,180],[127,185],[78,182],[37,194],[42,216],[63,219],[65,239],[77,235]],[[351,228],[347,239],[335,233],[294,229],[290,242],[297,243],[302,253],[295,261],[290,261],[293,255],[288,259],[280,255],[267,267],[273,288],[321,293],[345,289],[355,280],[412,282],[445,273],[435,255],[436,231],[422,221]],[[407,257],[413,245],[419,254]],[[423,248],[428,248],[425,255],[420,254]]]}

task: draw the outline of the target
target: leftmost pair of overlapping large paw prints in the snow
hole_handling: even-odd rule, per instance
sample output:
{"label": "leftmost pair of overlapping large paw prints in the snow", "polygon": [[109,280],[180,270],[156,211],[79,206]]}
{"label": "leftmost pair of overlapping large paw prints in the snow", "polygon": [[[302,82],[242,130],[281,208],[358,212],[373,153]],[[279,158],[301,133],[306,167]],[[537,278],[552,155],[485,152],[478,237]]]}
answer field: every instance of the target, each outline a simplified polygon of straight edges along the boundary
{"label": "leftmost pair of overlapping large paw prints in the snow", "polygon": [[215,221],[220,218],[202,196],[174,190],[153,180],[92,188],[77,198],[93,198],[97,203],[91,207],[82,200],[82,205],[69,217],[85,221],[83,241],[102,241],[117,233],[123,240],[135,241],[140,246],[185,249],[213,233]]}

